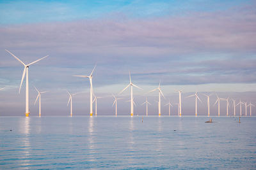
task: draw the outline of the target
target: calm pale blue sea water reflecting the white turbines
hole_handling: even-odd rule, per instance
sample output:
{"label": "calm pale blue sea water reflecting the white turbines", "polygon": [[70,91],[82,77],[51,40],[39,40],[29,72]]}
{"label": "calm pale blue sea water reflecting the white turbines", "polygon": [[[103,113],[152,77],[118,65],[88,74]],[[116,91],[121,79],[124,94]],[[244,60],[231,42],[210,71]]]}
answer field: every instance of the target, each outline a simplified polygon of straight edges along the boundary
{"label": "calm pale blue sea water reflecting the white turbines", "polygon": [[256,169],[255,117],[141,119],[0,117],[0,169]]}

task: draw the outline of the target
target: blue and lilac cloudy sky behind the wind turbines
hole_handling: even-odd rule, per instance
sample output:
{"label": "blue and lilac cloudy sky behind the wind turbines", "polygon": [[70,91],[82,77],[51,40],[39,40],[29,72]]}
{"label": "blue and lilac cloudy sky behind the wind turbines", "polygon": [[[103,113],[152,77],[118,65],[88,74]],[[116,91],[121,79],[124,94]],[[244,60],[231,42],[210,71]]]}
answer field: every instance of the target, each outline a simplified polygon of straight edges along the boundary
{"label": "blue and lilac cloudy sky behind the wind turbines", "polygon": [[[195,92],[202,99],[198,115],[211,113],[216,94],[238,103],[256,104],[256,3],[255,1],[0,1],[0,115],[24,115],[25,81],[19,94],[25,63],[49,55],[29,66],[29,110],[38,115],[36,90],[42,94],[42,115],[89,114],[88,78],[93,73],[98,115],[114,115],[112,94],[132,81],[135,115],[145,115],[140,104],[148,97],[149,115],[157,113],[161,81],[162,115],[170,100],[178,103],[182,89],[182,115],[195,115]],[[130,91],[120,95],[118,115],[129,115]],[[237,106],[237,110],[238,110]],[[221,115],[226,115],[221,101]],[[256,115],[256,109],[252,108]],[[244,112],[244,106],[243,106]],[[233,113],[230,100],[230,113]],[[177,105],[171,111],[177,115]],[[244,114],[244,113],[243,113]]]}

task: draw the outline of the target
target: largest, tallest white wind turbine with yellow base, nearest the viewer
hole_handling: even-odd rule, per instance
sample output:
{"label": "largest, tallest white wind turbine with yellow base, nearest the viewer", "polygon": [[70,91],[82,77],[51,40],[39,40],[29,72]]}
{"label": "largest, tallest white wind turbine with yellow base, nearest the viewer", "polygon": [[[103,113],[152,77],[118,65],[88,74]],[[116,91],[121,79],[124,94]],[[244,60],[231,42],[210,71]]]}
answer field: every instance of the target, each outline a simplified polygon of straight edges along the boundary
{"label": "largest, tallest white wind turbine with yellow base, nearest the viewer", "polygon": [[[36,62],[48,57],[49,55],[46,55],[45,57],[42,57],[41,59],[38,59],[38,60],[35,60],[34,62],[31,62],[29,64],[24,64],[24,62],[22,62],[18,57],[16,57],[15,55],[13,55],[13,53],[9,52],[8,50],[6,50],[6,52],[10,53],[15,59],[19,60],[19,62],[21,62],[21,64],[23,64],[24,66],[24,70],[23,70],[23,74],[22,74],[22,78],[21,78],[21,82],[20,82],[20,88],[21,88],[21,85],[22,85],[22,82],[24,80],[24,76],[26,74],[26,117],[29,116],[29,88],[28,88],[28,67],[31,66],[32,64],[35,64]],[[19,89],[19,93],[20,93],[20,89]]]}

